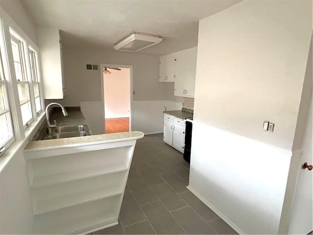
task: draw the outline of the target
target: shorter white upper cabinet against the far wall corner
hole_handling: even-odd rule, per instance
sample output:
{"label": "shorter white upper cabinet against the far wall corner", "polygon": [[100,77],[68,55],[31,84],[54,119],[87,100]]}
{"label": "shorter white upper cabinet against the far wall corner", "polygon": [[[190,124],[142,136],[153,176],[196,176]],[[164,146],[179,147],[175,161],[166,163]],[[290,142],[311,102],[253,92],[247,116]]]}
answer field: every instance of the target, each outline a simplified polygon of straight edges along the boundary
{"label": "shorter white upper cabinet against the far wall corner", "polygon": [[159,81],[175,81],[175,60],[176,53],[160,56]]}

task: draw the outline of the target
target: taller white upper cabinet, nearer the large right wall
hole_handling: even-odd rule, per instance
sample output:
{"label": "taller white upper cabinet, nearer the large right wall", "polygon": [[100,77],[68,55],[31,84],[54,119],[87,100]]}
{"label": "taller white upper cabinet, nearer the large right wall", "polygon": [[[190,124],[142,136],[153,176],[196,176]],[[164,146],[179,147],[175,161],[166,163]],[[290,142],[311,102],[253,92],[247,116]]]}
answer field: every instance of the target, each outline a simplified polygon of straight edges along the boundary
{"label": "taller white upper cabinet, nearer the large right wall", "polygon": [[174,95],[195,96],[197,48],[176,52]]}

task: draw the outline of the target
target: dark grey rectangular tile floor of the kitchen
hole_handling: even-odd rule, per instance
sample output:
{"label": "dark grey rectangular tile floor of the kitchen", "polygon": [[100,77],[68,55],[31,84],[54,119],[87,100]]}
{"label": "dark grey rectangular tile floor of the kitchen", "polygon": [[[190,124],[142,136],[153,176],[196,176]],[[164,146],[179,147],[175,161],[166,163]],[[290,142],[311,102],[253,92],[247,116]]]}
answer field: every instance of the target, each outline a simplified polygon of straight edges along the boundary
{"label": "dark grey rectangular tile floor of the kitchen", "polygon": [[137,141],[119,224],[94,234],[237,234],[186,186],[189,164],[162,134]]}

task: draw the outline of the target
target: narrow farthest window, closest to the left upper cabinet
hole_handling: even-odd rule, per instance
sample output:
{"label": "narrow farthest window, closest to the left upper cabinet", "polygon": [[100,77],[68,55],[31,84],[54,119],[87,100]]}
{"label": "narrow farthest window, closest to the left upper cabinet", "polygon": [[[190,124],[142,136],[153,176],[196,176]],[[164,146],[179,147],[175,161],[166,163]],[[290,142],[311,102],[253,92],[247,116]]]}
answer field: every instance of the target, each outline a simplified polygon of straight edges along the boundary
{"label": "narrow farthest window, closest to the left upper cabinet", "polygon": [[40,92],[39,92],[39,78],[38,78],[38,70],[37,70],[37,55],[36,52],[31,48],[28,49],[28,57],[29,57],[29,68],[30,75],[33,81],[33,89],[35,96],[35,108],[37,115],[41,112],[41,102],[40,102]]}

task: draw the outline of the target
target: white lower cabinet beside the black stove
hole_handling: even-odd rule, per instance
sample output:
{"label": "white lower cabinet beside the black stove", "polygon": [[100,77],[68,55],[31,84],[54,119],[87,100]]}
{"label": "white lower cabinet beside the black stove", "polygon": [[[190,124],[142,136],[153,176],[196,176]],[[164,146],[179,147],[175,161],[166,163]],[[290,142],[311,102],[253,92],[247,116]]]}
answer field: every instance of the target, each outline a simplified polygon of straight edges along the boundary
{"label": "white lower cabinet beside the black stove", "polygon": [[164,142],[171,145],[179,152],[184,152],[185,121],[183,119],[164,114],[163,135]]}

